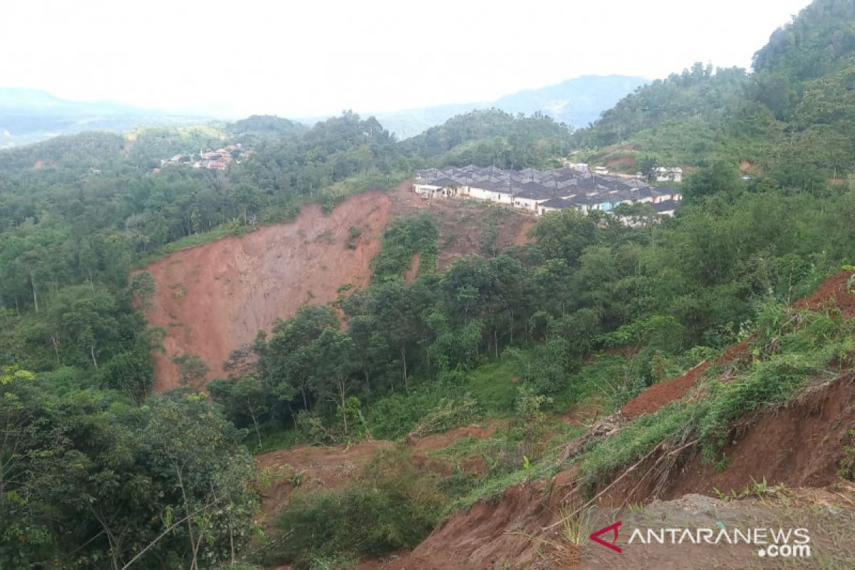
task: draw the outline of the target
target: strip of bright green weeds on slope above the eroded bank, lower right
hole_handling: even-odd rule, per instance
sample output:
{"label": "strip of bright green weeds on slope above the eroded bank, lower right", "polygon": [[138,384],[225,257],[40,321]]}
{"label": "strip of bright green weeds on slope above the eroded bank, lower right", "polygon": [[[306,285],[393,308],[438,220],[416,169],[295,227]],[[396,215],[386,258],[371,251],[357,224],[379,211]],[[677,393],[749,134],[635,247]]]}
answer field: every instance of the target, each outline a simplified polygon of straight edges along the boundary
{"label": "strip of bright green weeds on slope above the eroded bank, lower right", "polygon": [[[696,440],[705,461],[726,466],[719,456],[734,422],[792,400],[813,383],[834,379],[855,364],[855,320],[838,311],[796,311],[764,303],[752,326],[746,358],[710,367],[687,398],[641,416],[615,436],[585,450],[579,461],[588,491],[658,446]],[[726,371],[722,382],[722,374]],[[750,420],[750,417],[749,419]]]}

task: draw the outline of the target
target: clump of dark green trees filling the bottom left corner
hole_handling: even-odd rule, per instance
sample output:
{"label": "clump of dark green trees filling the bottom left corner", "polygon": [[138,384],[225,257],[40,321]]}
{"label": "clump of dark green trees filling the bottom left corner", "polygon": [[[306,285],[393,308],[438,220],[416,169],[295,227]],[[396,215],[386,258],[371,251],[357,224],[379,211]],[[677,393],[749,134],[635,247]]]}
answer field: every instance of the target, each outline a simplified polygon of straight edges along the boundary
{"label": "clump of dark green trees filling the bottom left corner", "polygon": [[203,396],[136,407],[7,369],[0,423],[3,567],[213,565],[249,543],[254,466]]}

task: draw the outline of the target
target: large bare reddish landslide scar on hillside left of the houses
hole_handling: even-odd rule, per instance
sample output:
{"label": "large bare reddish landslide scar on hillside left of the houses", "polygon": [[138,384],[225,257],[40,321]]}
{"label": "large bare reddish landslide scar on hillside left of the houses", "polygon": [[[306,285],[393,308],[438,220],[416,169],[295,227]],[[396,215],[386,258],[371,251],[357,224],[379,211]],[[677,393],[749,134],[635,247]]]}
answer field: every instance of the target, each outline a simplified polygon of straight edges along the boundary
{"label": "large bare reddish landslide scar on hillside left of the houses", "polygon": [[[207,379],[221,376],[232,351],[276,319],[307,303],[333,301],[341,285],[368,285],[391,210],[380,191],[351,197],[328,215],[320,204],[307,204],[290,223],[178,251],[146,267],[157,291],[146,317],[167,332],[165,352],[155,353],[156,391],[179,387],[174,356],[198,355],[210,369]],[[354,226],[363,232],[351,249]]]}

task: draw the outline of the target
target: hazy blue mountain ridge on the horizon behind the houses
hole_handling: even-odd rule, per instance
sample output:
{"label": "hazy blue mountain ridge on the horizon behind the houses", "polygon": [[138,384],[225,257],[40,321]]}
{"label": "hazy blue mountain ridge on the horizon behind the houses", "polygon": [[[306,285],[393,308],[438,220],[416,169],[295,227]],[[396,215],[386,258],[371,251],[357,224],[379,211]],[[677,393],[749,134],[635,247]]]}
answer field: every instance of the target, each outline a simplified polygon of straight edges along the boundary
{"label": "hazy blue mountain ridge on the horizon behind the houses", "polygon": [[611,109],[623,97],[646,83],[647,79],[628,75],[582,75],[557,85],[517,91],[489,102],[451,103],[371,115],[398,138],[414,137],[455,115],[490,108],[526,115],[539,112],[557,122],[581,127],[593,123],[603,111]]}

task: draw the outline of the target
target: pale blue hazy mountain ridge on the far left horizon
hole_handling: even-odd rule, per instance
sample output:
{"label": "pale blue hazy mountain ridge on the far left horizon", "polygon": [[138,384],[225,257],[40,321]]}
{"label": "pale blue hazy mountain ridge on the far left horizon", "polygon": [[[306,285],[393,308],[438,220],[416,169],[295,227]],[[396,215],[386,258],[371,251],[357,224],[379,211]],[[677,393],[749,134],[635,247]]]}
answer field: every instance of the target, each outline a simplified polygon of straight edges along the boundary
{"label": "pale blue hazy mountain ridge on the far left horizon", "polygon": [[82,131],[122,132],[134,126],[178,126],[209,119],[115,101],[68,101],[38,89],[0,87],[0,149]]}

